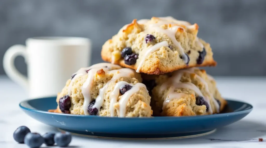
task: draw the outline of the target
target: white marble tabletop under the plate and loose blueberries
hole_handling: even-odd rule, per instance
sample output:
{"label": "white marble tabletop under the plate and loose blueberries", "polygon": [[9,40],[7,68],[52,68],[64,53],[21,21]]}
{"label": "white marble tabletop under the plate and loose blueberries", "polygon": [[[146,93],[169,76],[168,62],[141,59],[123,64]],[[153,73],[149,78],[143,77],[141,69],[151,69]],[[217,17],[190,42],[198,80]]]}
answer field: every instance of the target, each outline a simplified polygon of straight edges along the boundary
{"label": "white marble tabletop under the plate and loose blueberries", "polygon": [[[242,120],[217,129],[215,133],[176,140],[107,140],[73,136],[71,147],[203,147],[203,148],[242,148],[266,147],[266,77],[218,77],[217,85],[224,97],[243,100],[253,105],[253,111]],[[31,131],[44,134],[56,131],[55,128],[40,123],[27,116],[18,106],[27,94],[17,84],[5,76],[0,76],[0,148],[26,148],[13,140],[14,130],[28,126]],[[259,142],[258,138],[264,138]],[[42,145],[42,147],[47,147]],[[55,147],[55,146],[54,146]]]}

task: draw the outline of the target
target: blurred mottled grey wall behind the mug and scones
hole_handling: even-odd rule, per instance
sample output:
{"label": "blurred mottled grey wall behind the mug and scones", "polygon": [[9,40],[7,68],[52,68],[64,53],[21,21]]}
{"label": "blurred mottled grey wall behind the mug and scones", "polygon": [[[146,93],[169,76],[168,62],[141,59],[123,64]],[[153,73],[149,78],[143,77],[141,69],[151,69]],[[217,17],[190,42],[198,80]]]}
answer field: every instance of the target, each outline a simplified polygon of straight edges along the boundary
{"label": "blurred mottled grey wall behind the mug and scones", "polygon": [[[197,23],[198,37],[211,44],[218,62],[205,68],[210,74],[266,75],[265,0],[1,0],[0,74],[7,48],[36,36],[88,37],[92,64],[102,62],[107,39],[133,19],[152,16]],[[24,59],[15,63],[26,74]]]}

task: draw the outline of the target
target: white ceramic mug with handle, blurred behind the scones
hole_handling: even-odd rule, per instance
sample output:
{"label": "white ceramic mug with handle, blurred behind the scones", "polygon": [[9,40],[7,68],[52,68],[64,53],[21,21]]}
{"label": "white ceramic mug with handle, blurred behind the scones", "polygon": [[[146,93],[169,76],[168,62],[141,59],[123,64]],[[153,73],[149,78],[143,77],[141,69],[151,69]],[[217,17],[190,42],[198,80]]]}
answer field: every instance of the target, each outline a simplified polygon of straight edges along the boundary
{"label": "white ceramic mug with handle, blurred behind the scones", "polygon": [[[11,46],[3,58],[7,76],[28,91],[30,98],[56,96],[81,67],[90,65],[91,42],[81,37],[35,37],[26,46]],[[15,68],[14,60],[23,56],[28,77]],[[15,93],[15,92],[14,92]]]}

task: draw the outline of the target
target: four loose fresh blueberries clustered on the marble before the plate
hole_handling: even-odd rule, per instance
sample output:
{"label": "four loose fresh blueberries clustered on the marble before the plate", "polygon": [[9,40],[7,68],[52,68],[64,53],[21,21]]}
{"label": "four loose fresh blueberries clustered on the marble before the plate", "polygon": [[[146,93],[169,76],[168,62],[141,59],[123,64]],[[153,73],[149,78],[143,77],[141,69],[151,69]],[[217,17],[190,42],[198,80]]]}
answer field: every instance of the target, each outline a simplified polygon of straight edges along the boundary
{"label": "four loose fresh blueberries clustered on the marble before the plate", "polygon": [[53,146],[56,143],[59,147],[67,147],[72,136],[69,132],[48,132],[41,136],[39,133],[31,133],[26,126],[20,126],[13,133],[13,138],[16,142],[25,143],[30,148],[38,148],[43,143],[47,146]]}

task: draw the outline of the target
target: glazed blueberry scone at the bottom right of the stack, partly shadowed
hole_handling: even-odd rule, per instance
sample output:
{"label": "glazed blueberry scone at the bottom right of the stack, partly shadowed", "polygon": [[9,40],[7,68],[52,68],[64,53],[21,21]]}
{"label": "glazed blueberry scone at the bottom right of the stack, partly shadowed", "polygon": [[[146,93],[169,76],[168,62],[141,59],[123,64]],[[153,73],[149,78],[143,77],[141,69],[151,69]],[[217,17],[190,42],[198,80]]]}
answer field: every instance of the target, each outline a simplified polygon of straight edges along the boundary
{"label": "glazed blueberry scone at the bottom right of the stack, partly shadowed", "polygon": [[205,70],[181,69],[164,75],[143,75],[143,79],[156,116],[216,114],[227,104]]}

